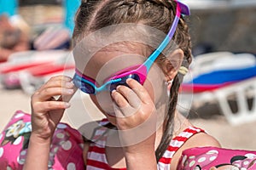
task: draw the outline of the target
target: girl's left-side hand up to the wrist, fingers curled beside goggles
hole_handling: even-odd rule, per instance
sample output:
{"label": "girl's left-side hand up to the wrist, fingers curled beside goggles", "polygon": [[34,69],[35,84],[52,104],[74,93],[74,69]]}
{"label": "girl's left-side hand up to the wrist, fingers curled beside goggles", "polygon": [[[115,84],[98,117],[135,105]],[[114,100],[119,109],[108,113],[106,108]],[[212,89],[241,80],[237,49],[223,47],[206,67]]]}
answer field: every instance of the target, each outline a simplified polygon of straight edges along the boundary
{"label": "girl's left-side hand up to the wrist, fingers curled beside goggles", "polygon": [[[65,98],[74,94],[72,78],[65,76],[52,77],[33,95],[32,135],[42,141],[51,139],[56,125],[61,121],[65,109],[70,107]],[[55,99],[54,96],[61,96]]]}

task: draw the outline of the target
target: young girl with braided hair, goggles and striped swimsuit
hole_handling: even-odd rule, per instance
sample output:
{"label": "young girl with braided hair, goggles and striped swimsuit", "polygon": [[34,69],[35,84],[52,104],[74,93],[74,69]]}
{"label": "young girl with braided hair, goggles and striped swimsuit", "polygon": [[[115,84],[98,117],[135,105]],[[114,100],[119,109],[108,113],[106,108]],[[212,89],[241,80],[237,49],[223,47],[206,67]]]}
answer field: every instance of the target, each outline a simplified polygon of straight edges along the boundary
{"label": "young girl with braided hair, goggles and striped swimsuit", "polygon": [[55,128],[76,88],[107,118],[84,142],[85,169],[176,169],[183,150],[219,146],[176,111],[192,60],[181,14],[189,10],[175,0],[83,2],[73,32],[76,74],[52,77],[32,95],[24,168],[48,169]]}

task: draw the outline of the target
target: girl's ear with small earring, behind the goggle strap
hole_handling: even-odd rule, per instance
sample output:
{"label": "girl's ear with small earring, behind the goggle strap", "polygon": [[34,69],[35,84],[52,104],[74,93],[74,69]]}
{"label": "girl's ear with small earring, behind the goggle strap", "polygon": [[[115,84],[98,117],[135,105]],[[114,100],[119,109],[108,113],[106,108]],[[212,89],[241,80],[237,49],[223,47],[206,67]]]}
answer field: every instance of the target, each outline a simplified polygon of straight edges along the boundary
{"label": "girl's ear with small earring, behind the goggle strap", "polygon": [[166,74],[166,82],[171,81],[177,75],[177,71],[183,63],[183,57],[184,53],[181,48],[175,49],[168,55],[163,65],[163,71]]}

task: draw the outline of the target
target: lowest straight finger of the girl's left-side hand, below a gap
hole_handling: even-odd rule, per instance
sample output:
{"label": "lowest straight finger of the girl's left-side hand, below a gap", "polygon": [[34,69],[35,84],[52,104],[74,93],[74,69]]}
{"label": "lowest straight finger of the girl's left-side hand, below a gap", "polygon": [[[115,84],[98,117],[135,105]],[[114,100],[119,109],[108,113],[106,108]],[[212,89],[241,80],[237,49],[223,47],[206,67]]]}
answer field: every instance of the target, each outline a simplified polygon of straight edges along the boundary
{"label": "lowest straight finger of the girl's left-side hand, below a gap", "polygon": [[62,101],[44,101],[33,106],[34,110],[36,110],[37,112],[45,112],[45,113],[47,111],[67,109],[69,107],[70,107],[69,103],[62,102]]}

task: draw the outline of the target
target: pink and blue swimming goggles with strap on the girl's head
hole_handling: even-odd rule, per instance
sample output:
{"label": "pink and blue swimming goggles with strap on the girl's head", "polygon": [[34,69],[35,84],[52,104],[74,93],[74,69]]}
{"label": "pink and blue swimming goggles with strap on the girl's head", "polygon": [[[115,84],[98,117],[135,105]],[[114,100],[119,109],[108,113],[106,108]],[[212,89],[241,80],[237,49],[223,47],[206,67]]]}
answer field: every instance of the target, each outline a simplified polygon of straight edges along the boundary
{"label": "pink and blue swimming goggles with strap on the girl's head", "polygon": [[133,78],[140,82],[142,85],[145,82],[148,71],[150,67],[154,64],[154,60],[160,55],[160,53],[166,48],[168,43],[172,40],[174,32],[177,28],[178,20],[180,19],[181,14],[189,15],[189,7],[183,3],[175,1],[177,3],[176,15],[173,20],[172,27],[168,34],[166,35],[163,42],[160,43],[160,46],[154,50],[154,53],[151,54],[148,59],[142,65],[133,65],[131,67],[125,68],[124,70],[116,72],[113,77],[109,77],[105,83],[96,87],[96,80],[93,78],[85,76],[78,69],[75,71],[75,75],[73,77],[74,85],[82,90],[86,94],[97,94],[101,91],[113,91],[119,85],[128,86],[126,84],[126,80],[128,78]]}

